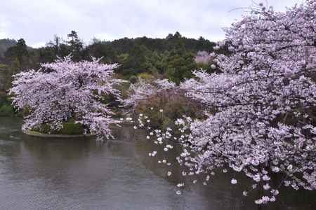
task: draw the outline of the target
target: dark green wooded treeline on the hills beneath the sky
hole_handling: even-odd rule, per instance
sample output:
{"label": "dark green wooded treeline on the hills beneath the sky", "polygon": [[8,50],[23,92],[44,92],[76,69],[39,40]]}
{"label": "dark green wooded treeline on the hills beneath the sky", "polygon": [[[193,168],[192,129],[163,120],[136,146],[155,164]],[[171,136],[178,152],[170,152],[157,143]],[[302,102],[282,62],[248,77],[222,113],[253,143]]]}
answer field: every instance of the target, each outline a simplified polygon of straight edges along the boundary
{"label": "dark green wooded treeline on the hills beneath the sky", "polygon": [[[125,79],[150,75],[179,83],[183,78],[190,78],[192,69],[201,67],[195,62],[197,52],[212,52],[214,45],[203,37],[186,38],[179,32],[166,38],[93,39],[91,44],[84,45],[77,32],[71,31],[67,40],[55,36],[42,48],[29,48],[23,38],[3,39],[0,40],[0,91],[10,86],[12,74],[36,69],[40,63],[53,62],[57,57],[70,54],[74,61],[102,57],[101,62],[118,63],[117,73]],[[225,52],[225,49],[220,50],[220,53]]]}

